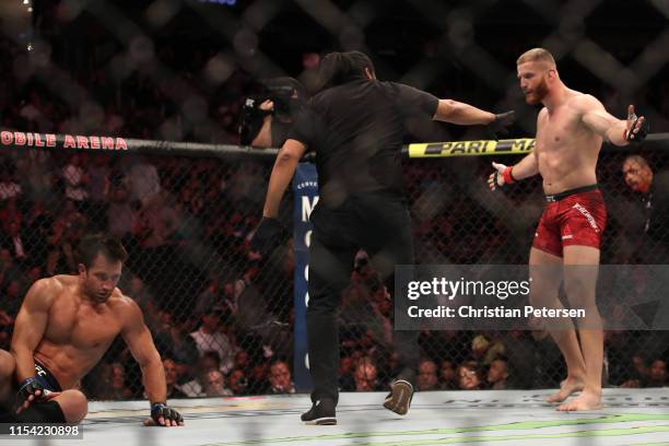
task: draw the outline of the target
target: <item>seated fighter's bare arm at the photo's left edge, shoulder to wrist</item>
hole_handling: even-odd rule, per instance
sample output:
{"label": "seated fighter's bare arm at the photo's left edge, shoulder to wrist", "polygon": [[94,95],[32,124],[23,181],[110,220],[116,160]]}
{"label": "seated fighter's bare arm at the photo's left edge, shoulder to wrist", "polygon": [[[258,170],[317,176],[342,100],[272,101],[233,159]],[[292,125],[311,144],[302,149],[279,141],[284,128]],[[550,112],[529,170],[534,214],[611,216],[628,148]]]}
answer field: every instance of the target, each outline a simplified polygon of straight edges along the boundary
{"label": "seated fighter's bare arm at the photo's left edge, shoulder to wrist", "polygon": [[49,308],[59,286],[55,279],[40,279],[33,283],[21,305],[11,344],[19,383],[35,375],[33,353],[44,337]]}

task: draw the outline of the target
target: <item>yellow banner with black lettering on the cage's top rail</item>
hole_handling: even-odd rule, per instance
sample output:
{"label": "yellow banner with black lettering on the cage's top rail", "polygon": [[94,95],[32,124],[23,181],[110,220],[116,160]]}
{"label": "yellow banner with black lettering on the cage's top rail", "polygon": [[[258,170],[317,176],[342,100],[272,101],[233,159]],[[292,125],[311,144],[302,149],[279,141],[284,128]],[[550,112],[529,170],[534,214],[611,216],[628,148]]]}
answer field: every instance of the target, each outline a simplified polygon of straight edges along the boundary
{"label": "yellow banner with black lettering on the cage's top rail", "polygon": [[533,138],[513,140],[448,141],[409,144],[409,157],[523,155],[535,150]]}

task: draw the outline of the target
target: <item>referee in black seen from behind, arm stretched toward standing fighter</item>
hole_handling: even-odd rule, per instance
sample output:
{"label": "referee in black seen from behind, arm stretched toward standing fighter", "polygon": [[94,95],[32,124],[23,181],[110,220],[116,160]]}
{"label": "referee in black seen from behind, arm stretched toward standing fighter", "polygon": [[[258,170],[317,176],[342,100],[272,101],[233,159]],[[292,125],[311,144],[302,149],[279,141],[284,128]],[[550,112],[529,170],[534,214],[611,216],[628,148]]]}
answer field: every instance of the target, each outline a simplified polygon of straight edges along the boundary
{"label": "referee in black seen from behind, arm stretched toward standing fighter", "polygon": [[[320,67],[325,90],[297,118],[277,156],[262,221],[254,236],[260,250],[277,238],[281,198],[307,149],[316,152],[319,201],[310,220],[307,337],[314,382],[309,424],[336,424],[339,338],[336,310],[363,248],[392,293],[396,265],[413,263],[411,220],[402,187],[403,121],[426,116],[459,125],[507,126],[513,111],[494,115],[394,82],[379,82],[367,56],[332,52]],[[413,395],[416,331],[396,331],[400,374],[384,407],[406,414]]]}

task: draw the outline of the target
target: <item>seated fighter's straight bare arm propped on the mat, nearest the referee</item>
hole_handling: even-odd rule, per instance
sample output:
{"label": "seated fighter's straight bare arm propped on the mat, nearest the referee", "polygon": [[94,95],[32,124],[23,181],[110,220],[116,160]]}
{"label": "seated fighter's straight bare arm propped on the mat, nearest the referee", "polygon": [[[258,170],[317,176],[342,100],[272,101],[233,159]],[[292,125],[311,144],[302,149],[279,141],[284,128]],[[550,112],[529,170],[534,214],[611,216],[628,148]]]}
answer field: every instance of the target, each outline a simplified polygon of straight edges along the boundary
{"label": "seated fighter's straight bare arm propped on the mat, nearest the referee", "polygon": [[165,383],[165,371],[161,355],[153,343],[149,328],[144,324],[144,317],[134,301],[125,297],[124,302],[124,328],[121,336],[130,349],[130,353],[142,369],[142,383],[153,402],[165,402],[167,398],[167,385]]}

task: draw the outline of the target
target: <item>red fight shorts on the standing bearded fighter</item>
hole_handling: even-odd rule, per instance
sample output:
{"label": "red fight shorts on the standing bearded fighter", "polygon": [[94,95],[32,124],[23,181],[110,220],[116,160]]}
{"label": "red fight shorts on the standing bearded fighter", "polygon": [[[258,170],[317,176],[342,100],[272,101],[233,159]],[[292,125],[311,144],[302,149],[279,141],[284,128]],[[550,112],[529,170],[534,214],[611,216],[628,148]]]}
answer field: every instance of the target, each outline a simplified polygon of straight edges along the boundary
{"label": "red fight shorts on the standing bearded fighter", "polygon": [[597,185],[545,197],[532,247],[562,257],[566,245],[599,249],[607,225],[607,209]]}

